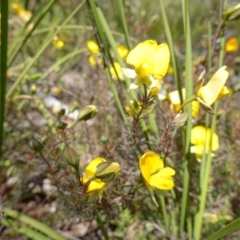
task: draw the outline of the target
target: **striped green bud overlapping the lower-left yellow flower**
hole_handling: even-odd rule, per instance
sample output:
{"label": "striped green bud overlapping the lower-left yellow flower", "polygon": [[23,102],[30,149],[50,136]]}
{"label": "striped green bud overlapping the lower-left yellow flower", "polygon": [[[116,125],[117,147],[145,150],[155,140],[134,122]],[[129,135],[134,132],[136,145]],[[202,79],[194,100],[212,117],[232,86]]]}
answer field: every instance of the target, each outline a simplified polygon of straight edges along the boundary
{"label": "striped green bud overlapping the lower-left yellow flower", "polygon": [[97,166],[95,178],[100,178],[103,182],[112,181],[120,172],[120,165],[116,162],[103,162]]}

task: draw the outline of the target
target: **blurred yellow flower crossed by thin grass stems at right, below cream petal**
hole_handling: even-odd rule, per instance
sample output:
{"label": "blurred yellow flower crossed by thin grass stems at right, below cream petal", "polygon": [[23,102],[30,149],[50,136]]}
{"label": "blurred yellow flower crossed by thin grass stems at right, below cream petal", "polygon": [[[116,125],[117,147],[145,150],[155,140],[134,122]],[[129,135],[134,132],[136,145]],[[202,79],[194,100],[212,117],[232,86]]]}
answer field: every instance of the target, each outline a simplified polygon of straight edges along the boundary
{"label": "blurred yellow flower crossed by thin grass stems at right, below cream petal", "polygon": [[[212,136],[212,144],[211,144]],[[191,131],[191,152],[196,154],[197,158],[201,158],[204,150],[217,151],[219,148],[219,138],[210,128],[196,126]]]}

